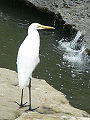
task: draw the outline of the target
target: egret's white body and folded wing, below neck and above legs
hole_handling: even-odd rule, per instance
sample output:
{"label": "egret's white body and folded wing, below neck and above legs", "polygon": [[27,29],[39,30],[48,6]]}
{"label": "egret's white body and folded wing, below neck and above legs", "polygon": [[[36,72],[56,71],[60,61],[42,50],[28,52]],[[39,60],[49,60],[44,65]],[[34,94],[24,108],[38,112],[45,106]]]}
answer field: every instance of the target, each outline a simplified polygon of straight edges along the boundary
{"label": "egret's white body and folded wing, below neck and above legs", "polygon": [[28,39],[26,37],[21,44],[17,56],[18,79],[21,88],[29,83],[32,72],[39,63],[39,45],[28,41]]}

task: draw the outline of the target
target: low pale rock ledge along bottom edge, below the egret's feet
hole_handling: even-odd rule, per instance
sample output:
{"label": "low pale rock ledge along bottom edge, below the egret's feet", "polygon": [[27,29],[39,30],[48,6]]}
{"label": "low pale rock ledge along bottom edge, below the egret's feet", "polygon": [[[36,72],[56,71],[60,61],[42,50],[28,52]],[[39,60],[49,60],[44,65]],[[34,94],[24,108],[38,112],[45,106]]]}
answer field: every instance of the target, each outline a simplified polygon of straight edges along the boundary
{"label": "low pale rock ledge along bottom edge, below the egret's feet", "polygon": [[88,117],[70,117],[56,114],[38,114],[37,112],[23,113],[16,120],[90,120]]}

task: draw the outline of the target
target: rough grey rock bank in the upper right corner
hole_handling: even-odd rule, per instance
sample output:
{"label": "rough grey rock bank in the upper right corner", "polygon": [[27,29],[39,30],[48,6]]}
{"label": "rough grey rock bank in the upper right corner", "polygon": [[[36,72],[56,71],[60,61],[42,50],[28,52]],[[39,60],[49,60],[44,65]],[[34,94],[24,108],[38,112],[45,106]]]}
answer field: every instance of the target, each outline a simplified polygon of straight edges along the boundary
{"label": "rough grey rock bank in the upper right corner", "polygon": [[[90,50],[90,0],[26,0],[37,8],[55,14],[60,22],[70,24],[84,35],[86,49]],[[64,22],[63,22],[64,23]],[[88,34],[88,35],[87,35]]]}

